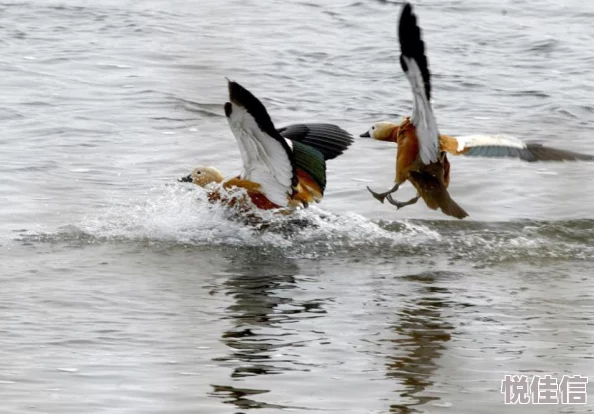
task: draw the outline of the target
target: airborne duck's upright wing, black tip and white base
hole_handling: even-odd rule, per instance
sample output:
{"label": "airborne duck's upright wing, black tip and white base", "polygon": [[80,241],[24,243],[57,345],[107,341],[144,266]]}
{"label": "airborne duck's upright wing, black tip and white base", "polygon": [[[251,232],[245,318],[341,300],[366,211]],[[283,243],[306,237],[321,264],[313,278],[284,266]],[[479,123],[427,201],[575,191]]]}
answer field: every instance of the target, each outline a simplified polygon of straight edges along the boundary
{"label": "airborne duck's upright wing, black tip and white base", "polygon": [[400,65],[413,93],[411,122],[416,128],[419,156],[424,164],[436,162],[439,155],[439,132],[431,109],[431,82],[425,44],[410,3],[406,3],[398,25]]}

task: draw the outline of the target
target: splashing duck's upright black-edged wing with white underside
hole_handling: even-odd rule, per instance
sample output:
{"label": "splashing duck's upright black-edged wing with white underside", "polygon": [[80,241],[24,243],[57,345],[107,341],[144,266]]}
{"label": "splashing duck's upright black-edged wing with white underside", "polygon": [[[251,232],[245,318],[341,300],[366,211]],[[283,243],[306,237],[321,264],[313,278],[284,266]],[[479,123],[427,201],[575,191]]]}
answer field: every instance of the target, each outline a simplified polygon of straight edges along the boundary
{"label": "splashing duck's upright black-edged wing with white underside", "polygon": [[241,178],[258,183],[270,201],[286,206],[297,185],[292,143],[278,133],[264,105],[243,86],[229,81],[229,100],[225,115],[241,152]]}

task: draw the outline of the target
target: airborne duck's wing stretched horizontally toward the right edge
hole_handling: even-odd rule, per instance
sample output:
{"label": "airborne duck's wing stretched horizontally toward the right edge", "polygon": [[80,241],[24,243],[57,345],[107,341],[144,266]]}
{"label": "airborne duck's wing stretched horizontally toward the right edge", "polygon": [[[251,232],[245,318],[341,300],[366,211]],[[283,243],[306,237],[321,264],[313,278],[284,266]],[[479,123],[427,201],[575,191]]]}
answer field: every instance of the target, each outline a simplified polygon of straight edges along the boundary
{"label": "airborne duck's wing stretched horizontally toward the right edge", "polygon": [[519,158],[523,161],[594,161],[593,155],[524,142],[510,135],[440,136],[440,148],[454,155]]}

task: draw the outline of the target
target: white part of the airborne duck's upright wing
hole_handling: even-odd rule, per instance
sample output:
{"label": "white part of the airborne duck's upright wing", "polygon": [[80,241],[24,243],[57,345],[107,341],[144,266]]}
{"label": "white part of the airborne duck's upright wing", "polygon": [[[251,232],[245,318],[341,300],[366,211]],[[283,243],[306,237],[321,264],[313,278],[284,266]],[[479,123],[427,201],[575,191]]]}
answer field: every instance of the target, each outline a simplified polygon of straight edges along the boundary
{"label": "white part of the airborne duck's upright wing", "polygon": [[408,70],[405,72],[413,92],[413,111],[411,122],[416,127],[419,140],[419,155],[423,164],[436,162],[439,155],[439,131],[433,116],[431,104],[427,99],[423,75],[417,62],[402,56]]}

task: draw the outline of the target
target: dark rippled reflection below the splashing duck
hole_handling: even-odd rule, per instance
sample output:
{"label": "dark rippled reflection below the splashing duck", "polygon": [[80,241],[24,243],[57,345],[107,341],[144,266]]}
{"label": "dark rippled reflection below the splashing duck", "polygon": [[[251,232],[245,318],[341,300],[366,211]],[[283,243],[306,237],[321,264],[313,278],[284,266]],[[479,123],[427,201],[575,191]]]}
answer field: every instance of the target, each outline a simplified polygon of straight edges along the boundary
{"label": "dark rippled reflection below the splashing duck", "polygon": [[[299,267],[289,258],[273,258],[257,250],[236,252],[229,260],[227,273],[232,276],[223,284],[223,293],[233,297],[233,304],[227,308],[232,327],[223,332],[221,341],[230,353],[214,361],[232,364],[234,380],[307,370],[283,352],[285,347],[301,346],[286,325],[299,314],[317,318],[325,313],[320,301],[297,302],[291,298]],[[213,384],[211,395],[242,409],[290,408],[249,398],[268,391]]]}

